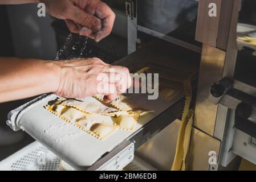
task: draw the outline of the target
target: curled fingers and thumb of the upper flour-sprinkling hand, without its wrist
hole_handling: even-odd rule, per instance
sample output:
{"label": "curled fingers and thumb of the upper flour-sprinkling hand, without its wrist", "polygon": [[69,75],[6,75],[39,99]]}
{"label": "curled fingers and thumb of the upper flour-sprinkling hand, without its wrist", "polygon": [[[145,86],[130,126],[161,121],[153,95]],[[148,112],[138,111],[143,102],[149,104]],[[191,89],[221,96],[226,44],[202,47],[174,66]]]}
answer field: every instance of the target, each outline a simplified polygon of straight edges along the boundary
{"label": "curled fingers and thumb of the upper flour-sprinkling hand, without its wrist", "polygon": [[72,20],[66,21],[71,32],[95,39],[96,42],[111,33],[115,22],[115,13],[103,2],[71,6],[66,16]]}

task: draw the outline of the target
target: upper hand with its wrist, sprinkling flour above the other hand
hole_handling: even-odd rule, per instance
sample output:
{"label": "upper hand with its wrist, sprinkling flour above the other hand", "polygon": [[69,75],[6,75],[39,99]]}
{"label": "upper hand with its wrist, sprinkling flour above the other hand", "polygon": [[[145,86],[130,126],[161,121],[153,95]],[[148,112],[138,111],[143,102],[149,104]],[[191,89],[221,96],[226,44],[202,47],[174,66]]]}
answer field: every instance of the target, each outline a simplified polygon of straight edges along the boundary
{"label": "upper hand with its wrist, sprinkling flour above the other hand", "polygon": [[71,32],[99,42],[113,28],[115,13],[100,0],[39,0],[47,12],[64,19]]}

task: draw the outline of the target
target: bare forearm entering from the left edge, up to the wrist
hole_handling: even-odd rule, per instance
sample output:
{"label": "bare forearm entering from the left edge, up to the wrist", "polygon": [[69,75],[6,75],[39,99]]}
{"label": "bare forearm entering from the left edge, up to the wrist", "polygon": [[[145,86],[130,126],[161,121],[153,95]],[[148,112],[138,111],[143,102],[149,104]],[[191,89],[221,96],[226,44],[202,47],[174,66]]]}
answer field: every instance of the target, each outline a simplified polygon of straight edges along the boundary
{"label": "bare forearm entering from the left edge, up to the wrist", "polygon": [[0,57],[0,102],[55,92],[59,69],[53,61]]}

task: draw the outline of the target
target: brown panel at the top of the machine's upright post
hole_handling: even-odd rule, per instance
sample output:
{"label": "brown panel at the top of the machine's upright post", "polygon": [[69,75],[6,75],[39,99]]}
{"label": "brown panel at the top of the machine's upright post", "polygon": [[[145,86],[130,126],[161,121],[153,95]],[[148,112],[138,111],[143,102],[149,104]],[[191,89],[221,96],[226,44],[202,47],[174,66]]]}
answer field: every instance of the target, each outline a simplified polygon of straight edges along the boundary
{"label": "brown panel at the top of the machine's upright post", "polygon": [[[209,4],[216,3],[217,16],[209,16]],[[196,40],[216,47],[222,0],[199,0]]]}

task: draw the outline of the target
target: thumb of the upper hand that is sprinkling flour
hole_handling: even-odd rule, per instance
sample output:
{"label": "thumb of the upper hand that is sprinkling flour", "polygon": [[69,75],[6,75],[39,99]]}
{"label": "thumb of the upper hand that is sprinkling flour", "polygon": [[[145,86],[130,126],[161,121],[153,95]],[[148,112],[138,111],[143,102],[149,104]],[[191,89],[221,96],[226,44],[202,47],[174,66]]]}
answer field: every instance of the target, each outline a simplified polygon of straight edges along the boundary
{"label": "thumb of the upper hand that is sprinkling flour", "polygon": [[75,23],[90,28],[94,32],[101,29],[101,20],[96,18],[96,16],[86,13],[86,11],[79,9],[76,6],[73,6],[70,12],[68,19],[73,20]]}

